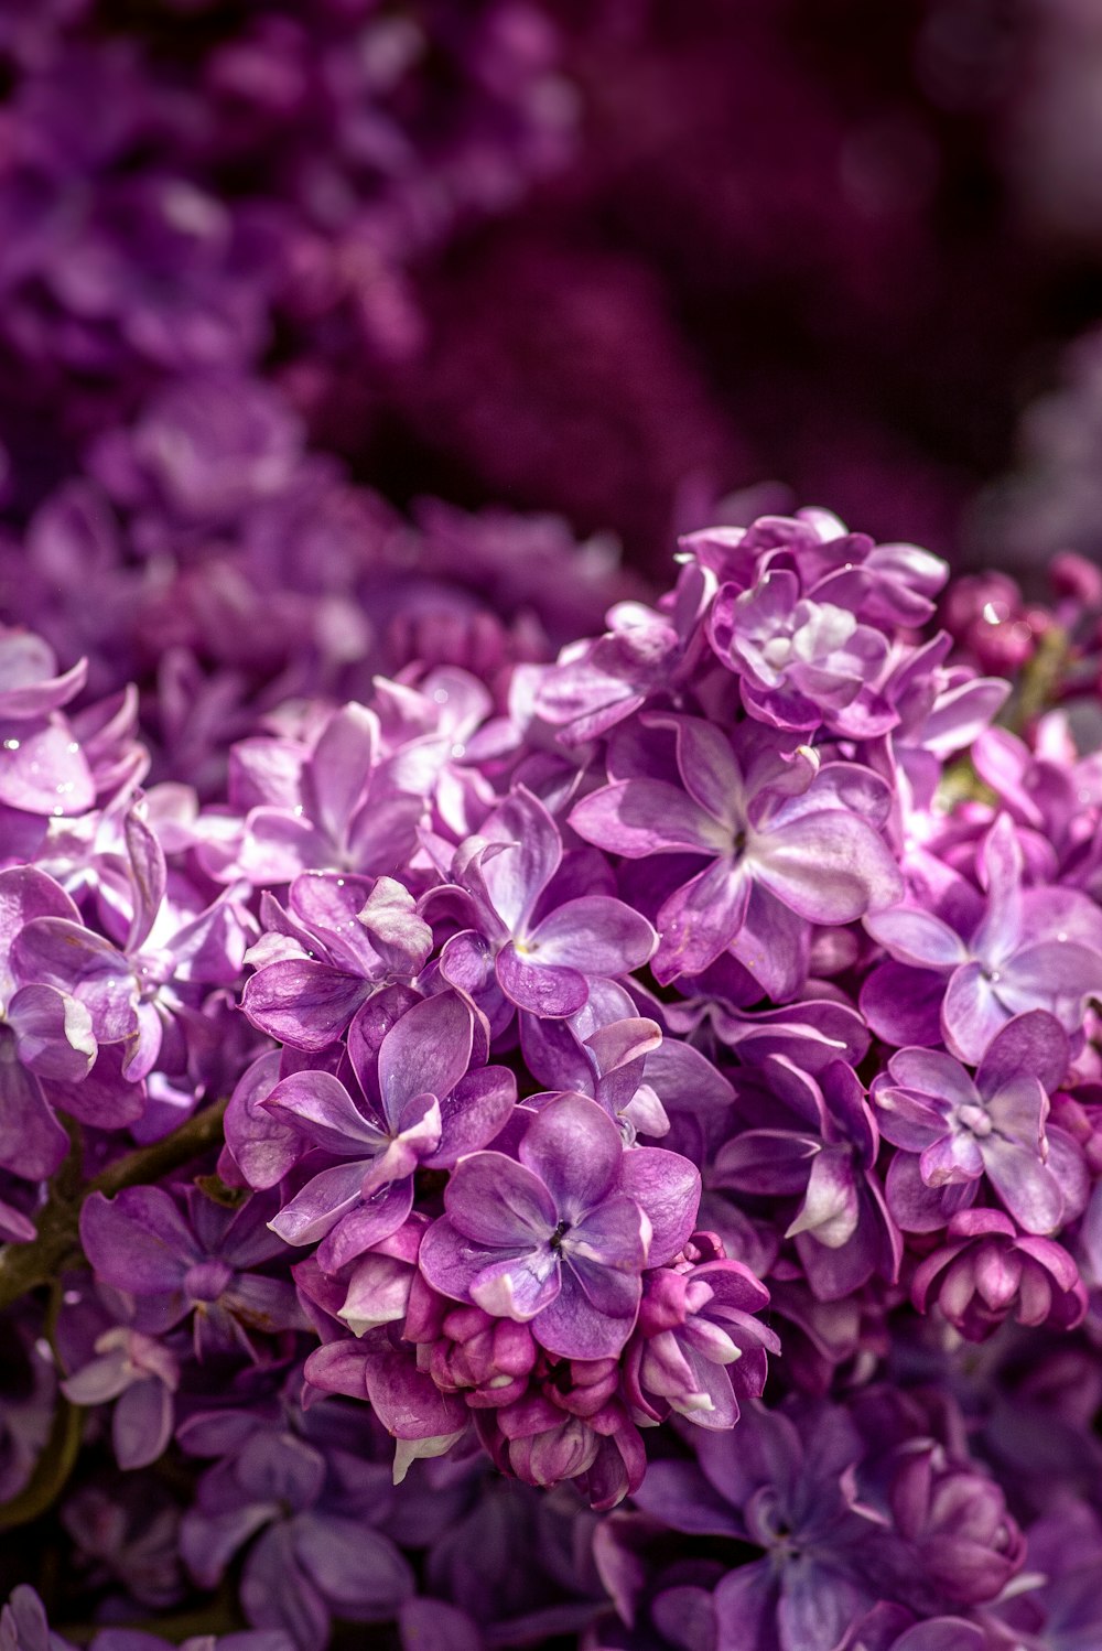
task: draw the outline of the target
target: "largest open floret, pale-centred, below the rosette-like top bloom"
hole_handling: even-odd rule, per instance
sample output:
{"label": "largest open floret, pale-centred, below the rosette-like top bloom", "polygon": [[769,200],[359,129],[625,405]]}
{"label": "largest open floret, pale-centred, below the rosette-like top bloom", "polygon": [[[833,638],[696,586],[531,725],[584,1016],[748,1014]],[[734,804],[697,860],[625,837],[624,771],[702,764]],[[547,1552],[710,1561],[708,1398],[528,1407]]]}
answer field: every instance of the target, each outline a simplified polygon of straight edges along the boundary
{"label": "largest open floret, pale-centred, below the rosette-like top bloom", "polygon": [[609,854],[706,855],[711,865],[658,911],[653,971],[663,984],[699,974],[731,949],[772,997],[794,996],[807,972],[812,923],[851,923],[889,905],[899,872],[876,832],[883,781],[754,725],[734,748],[695,717],[676,730],[681,786],[614,781],[579,802],[571,826]]}

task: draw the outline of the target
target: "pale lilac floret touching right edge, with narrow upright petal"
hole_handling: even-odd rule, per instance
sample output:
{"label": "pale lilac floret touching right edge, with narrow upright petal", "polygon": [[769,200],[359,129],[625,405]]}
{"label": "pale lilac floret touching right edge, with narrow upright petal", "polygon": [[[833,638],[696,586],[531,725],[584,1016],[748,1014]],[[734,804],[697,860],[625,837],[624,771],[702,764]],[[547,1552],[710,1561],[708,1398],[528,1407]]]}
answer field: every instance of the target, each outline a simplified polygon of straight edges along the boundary
{"label": "pale lilac floret touching right edge, with narrow upright petal", "polygon": [[[944,981],[940,1027],[949,1050],[977,1065],[1013,1015],[1048,1009],[1072,1037],[1087,997],[1102,991],[1102,913],[1072,888],[1023,888],[1023,854],[1013,822],[1001,814],[978,854],[987,900],[963,934],[919,906],[892,906],[866,918],[873,939],[897,963]],[[914,974],[873,974],[861,1009],[889,1042],[914,1042],[901,1019]],[[896,1029],[901,1037],[896,1038]],[[932,1030],[929,1042],[937,1032]]]}

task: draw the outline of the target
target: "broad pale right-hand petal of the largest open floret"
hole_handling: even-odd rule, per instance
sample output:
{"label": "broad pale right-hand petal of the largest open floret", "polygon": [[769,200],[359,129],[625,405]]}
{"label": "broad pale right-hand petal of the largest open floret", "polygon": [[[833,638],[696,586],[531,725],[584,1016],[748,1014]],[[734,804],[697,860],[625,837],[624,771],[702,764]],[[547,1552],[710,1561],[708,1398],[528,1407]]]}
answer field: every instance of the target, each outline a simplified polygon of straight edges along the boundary
{"label": "broad pale right-hand petal of the largest open floret", "polygon": [[902,877],[881,837],[853,814],[825,809],[757,834],[754,877],[810,923],[851,923],[902,895]]}

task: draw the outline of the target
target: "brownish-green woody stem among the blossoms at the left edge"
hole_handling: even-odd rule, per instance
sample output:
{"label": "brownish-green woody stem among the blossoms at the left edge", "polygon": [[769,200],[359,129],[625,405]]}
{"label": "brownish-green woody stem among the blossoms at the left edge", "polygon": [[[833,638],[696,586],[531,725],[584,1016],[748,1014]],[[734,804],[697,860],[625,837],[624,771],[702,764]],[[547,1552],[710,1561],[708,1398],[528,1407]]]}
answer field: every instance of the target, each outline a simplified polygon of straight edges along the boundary
{"label": "brownish-green woody stem among the blossoms at the left edge", "polygon": [[58,1276],[66,1258],[79,1248],[81,1205],[91,1192],[114,1197],[124,1187],[160,1180],[170,1171],[200,1157],[221,1141],[224,1111],[226,1101],[216,1101],[201,1113],[195,1113],[163,1141],[153,1141],[152,1146],[140,1146],[134,1152],[127,1152],[84,1187],[76,1189],[73,1182],[74,1166],[79,1176],[79,1147],[74,1146],[58,1171],[49,1197],[40,1212],[38,1237],[31,1243],[10,1243],[0,1248],[0,1309],[12,1306],[28,1289],[49,1284]]}

